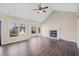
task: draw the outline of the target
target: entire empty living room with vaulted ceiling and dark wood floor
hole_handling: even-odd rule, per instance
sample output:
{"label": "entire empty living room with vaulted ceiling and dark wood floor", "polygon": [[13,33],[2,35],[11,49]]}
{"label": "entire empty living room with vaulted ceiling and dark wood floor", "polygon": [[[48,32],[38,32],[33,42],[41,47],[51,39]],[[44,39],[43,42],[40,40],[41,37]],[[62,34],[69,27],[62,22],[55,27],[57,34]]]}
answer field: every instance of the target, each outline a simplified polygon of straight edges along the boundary
{"label": "entire empty living room with vaulted ceiling and dark wood floor", "polygon": [[0,7],[0,55],[79,55],[78,3],[0,3]]}

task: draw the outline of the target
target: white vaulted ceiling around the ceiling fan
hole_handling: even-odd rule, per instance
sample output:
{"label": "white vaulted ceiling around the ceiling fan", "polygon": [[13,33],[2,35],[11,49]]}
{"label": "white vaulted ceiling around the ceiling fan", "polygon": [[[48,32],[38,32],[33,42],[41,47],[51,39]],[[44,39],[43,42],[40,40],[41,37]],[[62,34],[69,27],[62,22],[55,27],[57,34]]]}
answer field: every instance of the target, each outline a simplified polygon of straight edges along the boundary
{"label": "white vaulted ceiling around the ceiling fan", "polygon": [[17,16],[38,22],[44,21],[54,10],[77,12],[77,3],[46,3],[42,6],[48,6],[46,13],[38,14],[33,9],[38,8],[37,3],[0,3],[0,13]]}

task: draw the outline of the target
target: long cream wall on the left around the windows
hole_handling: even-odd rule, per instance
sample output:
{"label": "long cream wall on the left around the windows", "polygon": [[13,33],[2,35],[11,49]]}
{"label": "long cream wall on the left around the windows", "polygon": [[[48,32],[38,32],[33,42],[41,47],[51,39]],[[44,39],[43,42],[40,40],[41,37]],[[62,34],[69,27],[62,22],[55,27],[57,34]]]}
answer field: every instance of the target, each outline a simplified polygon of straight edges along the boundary
{"label": "long cream wall on the left around the windows", "polygon": [[[22,40],[27,40],[29,37],[31,37],[30,35],[30,31],[31,29],[30,25],[34,25],[36,27],[39,26],[39,23],[34,22],[34,21],[29,21],[27,19],[22,19],[22,18],[18,18],[18,17],[14,17],[14,16],[6,16],[6,15],[2,15],[0,14],[0,20],[1,20],[1,33],[2,33],[2,38],[1,38],[1,43],[2,44],[9,44],[9,43],[13,43],[13,42],[17,42],[17,41],[22,41]],[[14,21],[16,23],[20,23],[20,24],[25,24],[26,25],[26,34],[24,36],[16,36],[16,37],[10,37],[10,29],[9,29],[9,21]]]}

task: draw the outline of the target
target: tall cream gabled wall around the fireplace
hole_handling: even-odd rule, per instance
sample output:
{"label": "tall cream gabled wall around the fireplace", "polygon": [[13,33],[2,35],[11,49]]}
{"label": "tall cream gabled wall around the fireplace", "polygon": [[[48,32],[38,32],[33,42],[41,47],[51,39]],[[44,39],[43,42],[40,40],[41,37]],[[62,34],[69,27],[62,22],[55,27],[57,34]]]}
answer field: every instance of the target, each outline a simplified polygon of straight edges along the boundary
{"label": "tall cream gabled wall around the fireplace", "polygon": [[61,28],[60,37],[63,40],[76,41],[76,14],[72,12],[55,11],[42,24],[42,36],[49,37],[49,30]]}

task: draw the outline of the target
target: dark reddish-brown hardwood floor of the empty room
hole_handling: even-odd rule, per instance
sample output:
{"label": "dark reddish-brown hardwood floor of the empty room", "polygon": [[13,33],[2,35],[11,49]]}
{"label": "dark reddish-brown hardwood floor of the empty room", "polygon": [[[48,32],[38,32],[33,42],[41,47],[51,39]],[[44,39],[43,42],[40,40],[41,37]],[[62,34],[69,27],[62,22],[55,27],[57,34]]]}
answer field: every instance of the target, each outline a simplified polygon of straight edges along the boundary
{"label": "dark reddish-brown hardwood floor of the empty room", "polygon": [[75,42],[35,37],[26,41],[0,46],[2,56],[77,56]]}

